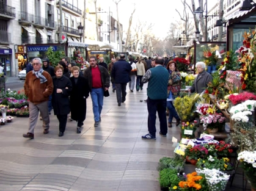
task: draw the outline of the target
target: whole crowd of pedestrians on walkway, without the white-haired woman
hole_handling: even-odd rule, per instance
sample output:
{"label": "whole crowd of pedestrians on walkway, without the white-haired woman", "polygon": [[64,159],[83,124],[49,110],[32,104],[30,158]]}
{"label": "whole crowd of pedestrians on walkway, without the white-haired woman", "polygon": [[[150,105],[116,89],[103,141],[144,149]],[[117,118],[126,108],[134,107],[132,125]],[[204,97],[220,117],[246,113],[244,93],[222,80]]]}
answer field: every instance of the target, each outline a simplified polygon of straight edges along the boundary
{"label": "whole crowd of pedestrians on walkway, without the white-haired woman", "polygon": [[[64,135],[68,114],[71,114],[71,120],[77,122],[76,132],[81,133],[89,95],[92,99],[94,126],[97,127],[101,121],[103,99],[111,84],[112,91],[116,93],[117,105],[121,106],[126,100],[127,84],[132,93],[134,87],[138,92],[148,82],[145,100],[148,108],[148,134],[142,136],[142,139],[156,139],[156,112],[160,121],[160,135],[164,137],[167,134],[166,108],[171,113],[168,127],[172,127],[173,117],[177,125],[180,123],[172,101],[180,91],[177,84],[181,77],[173,60],[167,63],[167,67],[164,67],[165,60],[159,56],[146,60],[130,57],[127,62],[125,55],[120,54],[120,58],[112,58],[109,64],[104,62],[103,57],[99,60],[97,63],[97,57],[90,56],[90,66],[83,72],[75,62],[68,63],[67,59],[60,60],[55,68],[51,67],[47,58],[35,58],[27,65],[24,90],[29,98],[29,129],[23,137],[34,138],[39,112],[43,134],[48,134],[52,109],[59,120],[59,137]],[[177,93],[170,92],[169,87],[176,87]]]}

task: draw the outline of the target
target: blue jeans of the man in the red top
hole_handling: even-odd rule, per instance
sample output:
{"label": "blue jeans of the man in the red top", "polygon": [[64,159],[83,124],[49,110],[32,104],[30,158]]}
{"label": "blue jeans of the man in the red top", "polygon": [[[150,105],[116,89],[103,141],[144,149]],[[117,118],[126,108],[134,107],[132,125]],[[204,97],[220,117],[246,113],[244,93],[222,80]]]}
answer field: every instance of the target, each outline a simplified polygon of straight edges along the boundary
{"label": "blue jeans of the man in the red top", "polygon": [[98,122],[100,121],[100,114],[103,106],[103,88],[92,88],[90,96],[92,98],[92,110],[94,115],[94,121]]}

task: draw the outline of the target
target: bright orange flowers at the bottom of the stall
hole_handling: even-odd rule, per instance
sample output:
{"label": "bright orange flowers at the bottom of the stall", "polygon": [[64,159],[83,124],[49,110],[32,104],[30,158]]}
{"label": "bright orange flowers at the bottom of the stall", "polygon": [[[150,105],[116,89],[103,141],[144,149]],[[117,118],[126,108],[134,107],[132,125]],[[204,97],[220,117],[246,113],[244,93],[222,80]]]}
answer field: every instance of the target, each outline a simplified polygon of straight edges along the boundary
{"label": "bright orange flowers at the bottom of the stall", "polygon": [[187,181],[180,181],[178,183],[178,186],[180,186],[180,188],[184,190],[200,190],[202,188],[202,185],[199,181],[202,178],[203,177],[198,176],[196,172],[192,172],[187,175]]}

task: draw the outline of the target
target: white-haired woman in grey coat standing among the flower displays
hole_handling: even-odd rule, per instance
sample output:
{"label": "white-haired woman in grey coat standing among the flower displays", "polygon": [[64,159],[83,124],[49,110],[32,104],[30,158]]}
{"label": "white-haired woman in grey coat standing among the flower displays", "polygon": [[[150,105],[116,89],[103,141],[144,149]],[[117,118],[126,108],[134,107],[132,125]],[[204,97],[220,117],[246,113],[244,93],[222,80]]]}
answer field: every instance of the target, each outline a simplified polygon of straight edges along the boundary
{"label": "white-haired woman in grey coat standing among the flower displays", "polygon": [[202,93],[207,88],[207,84],[213,81],[213,76],[205,71],[204,62],[197,62],[196,68],[198,75],[191,88],[188,89],[188,92]]}

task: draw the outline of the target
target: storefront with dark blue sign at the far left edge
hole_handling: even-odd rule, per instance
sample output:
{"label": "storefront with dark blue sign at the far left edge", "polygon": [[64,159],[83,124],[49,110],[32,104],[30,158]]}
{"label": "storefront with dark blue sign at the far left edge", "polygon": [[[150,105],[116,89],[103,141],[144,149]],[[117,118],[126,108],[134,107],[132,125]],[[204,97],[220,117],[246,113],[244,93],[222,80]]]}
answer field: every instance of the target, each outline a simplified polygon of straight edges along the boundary
{"label": "storefront with dark blue sign at the far left edge", "polygon": [[4,67],[7,77],[12,75],[12,49],[10,48],[0,48],[0,65]]}

